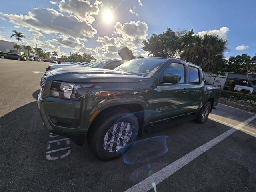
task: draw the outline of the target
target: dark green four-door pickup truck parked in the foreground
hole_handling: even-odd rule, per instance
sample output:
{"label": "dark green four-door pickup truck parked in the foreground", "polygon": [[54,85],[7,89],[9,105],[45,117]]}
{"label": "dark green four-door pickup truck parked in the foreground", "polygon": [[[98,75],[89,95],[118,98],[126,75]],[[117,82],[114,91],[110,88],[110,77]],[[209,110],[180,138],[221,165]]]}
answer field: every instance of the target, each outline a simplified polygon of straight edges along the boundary
{"label": "dark green four-door pickup truck parked in the foreground", "polygon": [[202,69],[174,58],[138,58],[115,70],[66,67],[43,76],[38,108],[44,126],[111,160],[145,126],[191,114],[198,123],[218,104],[220,87],[204,85]]}

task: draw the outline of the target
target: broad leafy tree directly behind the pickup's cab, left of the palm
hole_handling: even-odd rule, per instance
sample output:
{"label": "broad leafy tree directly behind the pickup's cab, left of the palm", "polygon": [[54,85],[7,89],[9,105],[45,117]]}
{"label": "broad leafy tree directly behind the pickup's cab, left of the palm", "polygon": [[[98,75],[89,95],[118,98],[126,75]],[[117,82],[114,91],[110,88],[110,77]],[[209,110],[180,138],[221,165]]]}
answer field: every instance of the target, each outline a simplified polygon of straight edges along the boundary
{"label": "broad leafy tree directly behind the pickup's cab, left of the palm", "polygon": [[144,40],[142,50],[149,52],[148,56],[176,58],[183,52],[193,35],[193,30],[174,32],[171,28],[167,28],[165,32],[159,35],[152,34],[148,40]]}

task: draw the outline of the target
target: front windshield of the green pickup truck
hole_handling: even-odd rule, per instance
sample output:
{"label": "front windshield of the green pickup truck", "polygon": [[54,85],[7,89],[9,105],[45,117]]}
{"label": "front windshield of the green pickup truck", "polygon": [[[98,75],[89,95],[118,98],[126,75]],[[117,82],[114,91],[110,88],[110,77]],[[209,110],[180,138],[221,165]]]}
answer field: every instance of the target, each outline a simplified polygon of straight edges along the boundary
{"label": "front windshield of the green pickup truck", "polygon": [[151,76],[165,61],[164,58],[134,59],[125,62],[114,70],[130,72],[140,76]]}

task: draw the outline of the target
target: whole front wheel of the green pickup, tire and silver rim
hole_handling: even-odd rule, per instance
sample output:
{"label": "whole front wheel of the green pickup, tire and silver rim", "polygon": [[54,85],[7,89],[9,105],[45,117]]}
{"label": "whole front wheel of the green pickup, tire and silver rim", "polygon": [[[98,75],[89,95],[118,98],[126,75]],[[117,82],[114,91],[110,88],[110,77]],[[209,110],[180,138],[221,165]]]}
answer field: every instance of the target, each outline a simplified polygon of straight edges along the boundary
{"label": "whole front wheel of the green pickup, tire and silver rim", "polygon": [[137,118],[126,110],[100,115],[87,135],[92,153],[104,161],[118,158],[130,148],[138,127]]}

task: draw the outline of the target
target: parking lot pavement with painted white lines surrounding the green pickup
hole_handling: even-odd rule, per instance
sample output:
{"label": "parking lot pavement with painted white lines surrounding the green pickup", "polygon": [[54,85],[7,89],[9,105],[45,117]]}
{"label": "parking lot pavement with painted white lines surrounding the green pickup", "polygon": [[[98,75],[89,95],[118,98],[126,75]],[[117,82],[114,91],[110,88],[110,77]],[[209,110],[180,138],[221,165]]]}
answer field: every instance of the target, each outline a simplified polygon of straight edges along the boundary
{"label": "parking lot pavement with painted white lines surrounding the green pickup", "polygon": [[86,141],[42,125],[36,100],[48,65],[0,59],[0,191],[256,191],[254,113],[219,104],[204,124],[156,125],[102,162]]}

